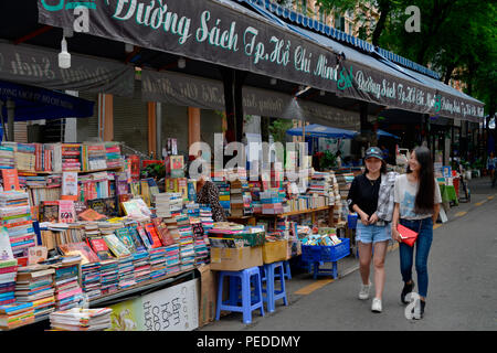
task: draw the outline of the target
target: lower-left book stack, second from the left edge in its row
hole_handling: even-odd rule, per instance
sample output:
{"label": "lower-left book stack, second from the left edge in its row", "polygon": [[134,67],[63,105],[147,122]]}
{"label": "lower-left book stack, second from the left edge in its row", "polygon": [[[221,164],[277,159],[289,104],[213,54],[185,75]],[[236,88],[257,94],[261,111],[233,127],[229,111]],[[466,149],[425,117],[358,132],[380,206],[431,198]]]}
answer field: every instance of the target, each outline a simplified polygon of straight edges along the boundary
{"label": "lower-left book stack, second from the left edge in its row", "polygon": [[55,270],[47,265],[18,268],[15,299],[19,302],[30,302],[36,318],[54,308],[54,274]]}

